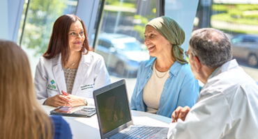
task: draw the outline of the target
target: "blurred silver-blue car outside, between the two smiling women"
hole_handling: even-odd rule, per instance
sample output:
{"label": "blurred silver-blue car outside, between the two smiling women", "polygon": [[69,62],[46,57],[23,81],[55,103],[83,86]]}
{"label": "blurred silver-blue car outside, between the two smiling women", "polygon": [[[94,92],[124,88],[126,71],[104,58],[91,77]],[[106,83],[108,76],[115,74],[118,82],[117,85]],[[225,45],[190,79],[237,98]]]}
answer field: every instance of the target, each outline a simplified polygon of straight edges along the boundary
{"label": "blurred silver-blue car outside, between the two smiling women", "polygon": [[109,70],[117,74],[136,74],[139,65],[150,58],[149,52],[134,37],[115,33],[100,33],[96,53],[102,55]]}

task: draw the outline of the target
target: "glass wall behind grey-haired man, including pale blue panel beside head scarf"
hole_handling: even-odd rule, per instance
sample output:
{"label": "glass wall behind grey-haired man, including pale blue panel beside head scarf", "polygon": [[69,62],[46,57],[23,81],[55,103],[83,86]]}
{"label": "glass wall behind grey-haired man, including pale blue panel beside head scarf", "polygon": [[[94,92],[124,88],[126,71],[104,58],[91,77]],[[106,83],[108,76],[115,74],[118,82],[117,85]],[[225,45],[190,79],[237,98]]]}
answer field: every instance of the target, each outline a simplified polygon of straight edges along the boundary
{"label": "glass wall behind grey-haired man, including pale blue panel beside head scarf", "polygon": [[186,38],[182,47],[185,50],[191,32],[197,28],[224,31],[232,40],[233,56],[238,64],[258,81],[258,1],[165,1],[165,15],[183,26]]}

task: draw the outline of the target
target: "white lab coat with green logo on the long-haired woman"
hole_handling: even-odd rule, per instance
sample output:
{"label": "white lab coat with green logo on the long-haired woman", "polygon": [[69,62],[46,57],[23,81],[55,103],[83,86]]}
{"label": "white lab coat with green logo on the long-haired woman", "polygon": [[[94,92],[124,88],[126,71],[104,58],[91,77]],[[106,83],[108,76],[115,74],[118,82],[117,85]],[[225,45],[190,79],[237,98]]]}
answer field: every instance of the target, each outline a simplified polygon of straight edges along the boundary
{"label": "white lab coat with green logo on the long-haired woman", "polygon": [[[34,78],[36,95],[40,104],[43,104],[48,97],[62,94],[61,90],[67,92],[61,54],[52,59],[41,57]],[[89,51],[86,55],[82,54],[79,61],[71,94],[84,97],[89,105],[94,105],[93,90],[110,83],[103,57]]]}

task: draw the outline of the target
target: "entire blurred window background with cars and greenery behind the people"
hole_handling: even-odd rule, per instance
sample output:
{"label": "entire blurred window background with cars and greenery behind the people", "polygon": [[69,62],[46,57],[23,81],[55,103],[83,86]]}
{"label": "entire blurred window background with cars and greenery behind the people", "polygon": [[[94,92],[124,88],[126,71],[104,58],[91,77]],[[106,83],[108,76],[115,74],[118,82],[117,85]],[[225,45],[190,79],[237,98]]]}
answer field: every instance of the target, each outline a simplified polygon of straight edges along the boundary
{"label": "entire blurred window background with cars and greenery behind the people", "polygon": [[145,25],[167,15],[183,26],[185,50],[197,28],[227,33],[234,58],[258,81],[257,0],[1,0],[0,5],[0,38],[20,44],[29,55],[33,74],[47,49],[54,21],[75,14],[86,24],[93,51],[105,58],[112,81],[126,79],[130,96],[139,65],[149,59]]}

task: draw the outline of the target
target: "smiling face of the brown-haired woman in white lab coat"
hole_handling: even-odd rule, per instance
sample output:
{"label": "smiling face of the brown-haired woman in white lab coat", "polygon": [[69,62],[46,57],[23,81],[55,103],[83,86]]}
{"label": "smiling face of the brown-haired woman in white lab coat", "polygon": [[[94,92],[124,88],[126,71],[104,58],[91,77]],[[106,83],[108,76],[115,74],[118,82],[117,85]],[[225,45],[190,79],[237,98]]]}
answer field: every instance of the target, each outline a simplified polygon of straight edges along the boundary
{"label": "smiling face of the brown-haired woman in white lab coat", "polygon": [[69,30],[69,47],[70,52],[80,51],[82,49],[82,44],[85,40],[84,29],[82,23],[78,20],[70,25]]}

